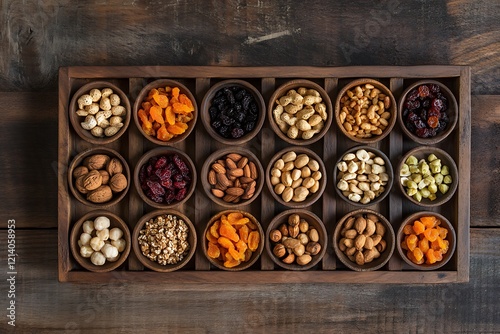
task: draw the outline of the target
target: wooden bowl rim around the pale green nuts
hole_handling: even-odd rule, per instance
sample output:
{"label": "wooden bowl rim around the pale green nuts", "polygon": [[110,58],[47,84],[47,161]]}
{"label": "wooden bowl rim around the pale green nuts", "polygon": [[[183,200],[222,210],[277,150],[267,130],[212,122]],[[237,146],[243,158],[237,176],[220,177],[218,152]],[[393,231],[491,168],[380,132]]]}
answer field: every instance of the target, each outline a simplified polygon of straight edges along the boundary
{"label": "wooden bowl rim around the pale green nuts", "polygon": [[[443,194],[439,193],[438,197],[434,201],[428,201],[426,198],[422,198],[422,201],[419,202],[419,201],[415,200],[413,197],[408,196],[405,189],[403,188],[403,185],[401,184],[401,176],[399,175],[399,172],[401,170],[401,167],[405,163],[406,159],[408,159],[408,157],[410,155],[419,155],[419,153],[424,154],[425,152],[432,152],[439,159],[442,159],[442,157],[445,157],[446,160],[450,161],[451,164],[449,164],[450,166],[448,166],[448,167],[450,169],[450,174],[452,174],[454,180],[451,183],[450,188],[448,189],[448,192],[446,194],[443,195]],[[427,158],[427,155],[429,155],[429,154],[430,153],[426,154],[426,158]],[[446,164],[446,165],[448,165],[448,164]],[[453,174],[455,174],[455,175],[453,175]],[[409,201],[411,201],[412,203],[414,203],[418,206],[427,207],[427,208],[437,207],[437,206],[443,205],[444,203],[448,202],[455,195],[455,192],[458,188],[458,183],[459,183],[458,167],[457,167],[457,164],[455,163],[455,160],[445,150],[443,150],[439,147],[434,147],[434,146],[418,146],[418,147],[415,147],[415,148],[409,150],[405,154],[403,154],[403,156],[401,157],[401,159],[398,162],[396,170],[394,171],[394,178],[395,179],[397,178],[399,191],[403,194],[405,199],[408,199]]]}

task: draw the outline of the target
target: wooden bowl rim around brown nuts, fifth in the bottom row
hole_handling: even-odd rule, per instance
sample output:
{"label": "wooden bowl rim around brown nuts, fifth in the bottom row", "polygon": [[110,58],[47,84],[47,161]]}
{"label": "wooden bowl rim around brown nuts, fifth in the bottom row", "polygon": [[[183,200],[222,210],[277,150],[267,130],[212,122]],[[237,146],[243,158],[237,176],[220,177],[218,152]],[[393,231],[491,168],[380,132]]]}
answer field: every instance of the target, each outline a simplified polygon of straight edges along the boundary
{"label": "wooden bowl rim around brown nuts, fifth in the bottom row", "polygon": [[[355,216],[357,214],[374,214],[379,218],[379,221],[382,222],[385,226],[385,236],[384,239],[387,243],[386,249],[380,254],[380,257],[377,259],[374,259],[373,261],[369,263],[365,263],[363,265],[359,265],[356,262],[352,262],[347,255],[344,254],[339,248],[339,241],[342,239],[342,235],[340,234],[344,222],[350,218],[351,216]],[[373,271],[373,270],[378,270],[382,268],[391,258],[392,253],[394,252],[394,247],[395,247],[395,240],[396,236],[394,235],[394,229],[392,228],[392,225],[389,223],[389,221],[380,213],[375,212],[373,210],[369,209],[358,209],[349,212],[346,214],[344,217],[342,217],[339,222],[337,223],[337,226],[335,227],[335,231],[333,233],[333,248],[335,250],[335,254],[339,258],[339,260],[345,264],[345,266],[351,270],[354,271]]]}

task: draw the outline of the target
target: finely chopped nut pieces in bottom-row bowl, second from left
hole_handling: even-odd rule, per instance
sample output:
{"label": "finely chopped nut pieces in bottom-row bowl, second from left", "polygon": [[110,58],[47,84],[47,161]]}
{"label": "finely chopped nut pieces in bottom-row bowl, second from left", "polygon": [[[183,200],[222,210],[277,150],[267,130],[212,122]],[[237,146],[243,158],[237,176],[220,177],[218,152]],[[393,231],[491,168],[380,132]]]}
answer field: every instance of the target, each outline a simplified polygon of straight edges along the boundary
{"label": "finely chopped nut pieces in bottom-row bowl, second from left", "polygon": [[142,254],[160,265],[177,264],[188,254],[189,227],[175,215],[161,215],[146,222],[139,232]]}

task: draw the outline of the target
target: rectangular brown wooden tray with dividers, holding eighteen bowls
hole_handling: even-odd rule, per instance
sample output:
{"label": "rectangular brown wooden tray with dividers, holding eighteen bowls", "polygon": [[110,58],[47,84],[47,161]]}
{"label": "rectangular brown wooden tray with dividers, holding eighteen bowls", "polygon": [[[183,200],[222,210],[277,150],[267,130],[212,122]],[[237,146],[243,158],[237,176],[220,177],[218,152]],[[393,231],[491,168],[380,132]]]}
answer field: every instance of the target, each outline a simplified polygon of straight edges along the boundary
{"label": "rectangular brown wooden tray with dividers, holding eighteen bowls", "polygon": [[[72,129],[68,119],[68,105],[72,95],[83,84],[94,80],[106,80],[123,89],[131,104],[142,87],[158,78],[172,78],[184,83],[195,95],[200,105],[205,92],[223,79],[239,78],[247,80],[262,92],[264,99],[270,98],[280,84],[297,78],[307,78],[320,84],[335,101],[337,92],[355,78],[369,77],[387,85],[396,99],[412,82],[419,79],[436,79],[445,83],[455,94],[459,105],[458,124],[453,133],[438,147],[446,150],[455,159],[459,169],[459,185],[454,197],[445,205],[433,209],[446,216],[457,233],[457,247],[452,260],[438,271],[414,271],[399,257],[397,251],[389,263],[374,272],[354,272],[337,261],[331,236],[336,222],[345,213],[356,209],[337,197],[332,183],[335,161],[348,148],[356,145],[344,137],[337,129],[335,121],[326,136],[310,148],[323,157],[327,166],[329,182],[325,193],[310,209],[324,221],[329,245],[323,260],[315,268],[303,272],[290,272],[275,266],[269,256],[262,254],[249,270],[226,272],[211,268],[200,244],[190,263],[182,270],[171,273],[157,273],[144,269],[131,252],[125,265],[109,273],[93,273],[80,268],[70,253],[69,234],[73,224],[91,208],[80,204],[69,192],[66,170],[71,159],[91,144],[80,139]],[[469,280],[469,212],[470,212],[470,68],[463,66],[366,66],[366,67],[213,67],[213,66],[132,66],[132,67],[63,67],[59,71],[59,280],[61,282],[110,282],[148,281],[155,283],[455,283]],[[206,140],[207,132],[201,120],[195,131],[176,147],[187,152],[195,162],[198,172],[208,155],[223,145],[215,140]],[[135,123],[131,122],[128,132],[117,142],[106,145],[118,150],[134,169],[139,157],[155,145],[142,137]],[[271,130],[268,121],[255,140],[244,145],[251,149],[267,166],[274,152],[286,146]],[[396,124],[392,133],[382,142],[374,145],[383,150],[396,166],[398,159],[411,148],[418,146],[404,137]],[[203,177],[200,175],[200,178]],[[399,190],[393,186],[384,201],[371,207],[391,221],[397,231],[404,217],[421,211],[409,201],[403,200]],[[201,235],[209,218],[222,210],[204,194],[201,181],[195,194],[178,208],[188,215]],[[260,220],[267,228],[271,219],[286,208],[274,202],[264,187],[260,199],[242,207]],[[144,204],[133,186],[127,197],[110,211],[120,215],[132,230],[137,220],[152,210]],[[203,242],[204,238],[198,238]]]}

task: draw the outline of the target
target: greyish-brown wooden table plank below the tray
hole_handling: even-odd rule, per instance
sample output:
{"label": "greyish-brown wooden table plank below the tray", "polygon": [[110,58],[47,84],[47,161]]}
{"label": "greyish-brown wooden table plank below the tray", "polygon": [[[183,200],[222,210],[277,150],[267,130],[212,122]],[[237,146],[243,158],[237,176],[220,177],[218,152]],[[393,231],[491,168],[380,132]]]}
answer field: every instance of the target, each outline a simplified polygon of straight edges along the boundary
{"label": "greyish-brown wooden table plank below the tray", "polygon": [[[0,231],[5,245],[7,232]],[[18,230],[19,333],[481,332],[500,325],[500,229],[471,229],[466,284],[104,284],[57,282],[57,231]],[[0,263],[6,263],[5,247]],[[3,268],[3,265],[2,265]],[[0,279],[5,282],[5,270]],[[2,291],[6,287],[2,283]],[[244,300],[244,302],[242,302]],[[425,307],[423,307],[425,303]],[[231,314],[223,320],[221,314]],[[124,321],[126,319],[126,321]],[[8,328],[5,322],[0,331]]]}

